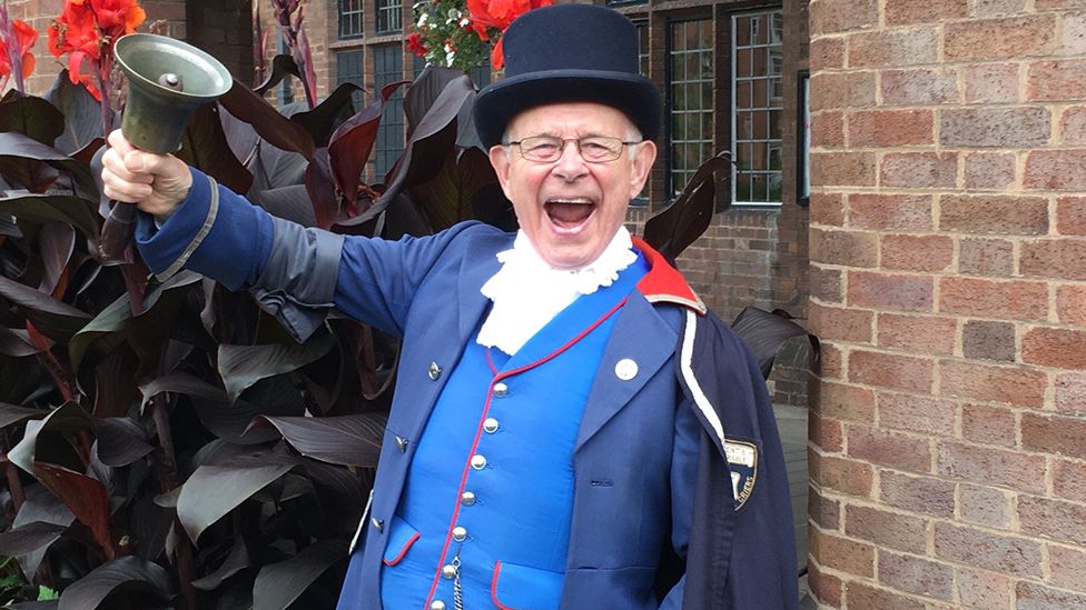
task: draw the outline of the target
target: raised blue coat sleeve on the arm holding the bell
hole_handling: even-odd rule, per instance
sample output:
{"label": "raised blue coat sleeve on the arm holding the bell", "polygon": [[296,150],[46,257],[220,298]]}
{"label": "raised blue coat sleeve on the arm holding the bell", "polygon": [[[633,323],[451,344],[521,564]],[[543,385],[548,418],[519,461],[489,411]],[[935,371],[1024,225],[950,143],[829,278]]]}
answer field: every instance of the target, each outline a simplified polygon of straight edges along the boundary
{"label": "raised blue coat sleeve on the arm holding the bell", "polygon": [[188,198],[165,223],[140,214],[136,237],[145,261],[161,279],[188,269],[230,290],[251,290],[298,341],[332,309],[402,336],[419,283],[455,237],[477,226],[399,241],[344,237],[275,218],[191,172]]}

